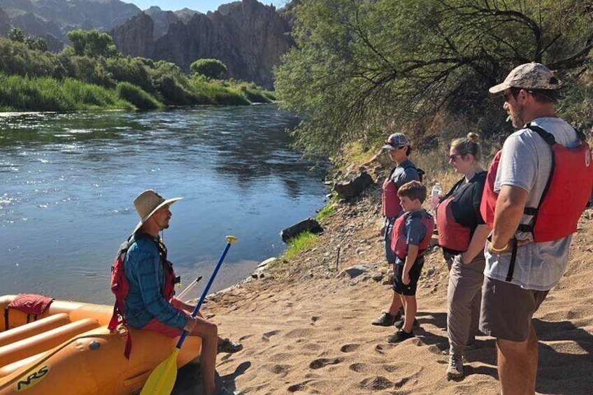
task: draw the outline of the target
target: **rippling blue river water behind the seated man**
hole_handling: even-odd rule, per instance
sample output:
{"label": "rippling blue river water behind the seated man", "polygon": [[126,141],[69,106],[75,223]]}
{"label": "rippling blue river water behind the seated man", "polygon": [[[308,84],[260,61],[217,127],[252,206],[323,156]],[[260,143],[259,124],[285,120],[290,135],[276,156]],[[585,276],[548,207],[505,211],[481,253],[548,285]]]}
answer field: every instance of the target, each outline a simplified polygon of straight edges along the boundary
{"label": "rippling blue river water behind the seated man", "polygon": [[144,189],[184,198],[163,236],[184,285],[203,275],[191,297],[227,234],[238,242],[210,292],[245,278],[323,206],[322,169],[290,149],[296,122],[275,105],[0,117],[0,295],[112,303]]}

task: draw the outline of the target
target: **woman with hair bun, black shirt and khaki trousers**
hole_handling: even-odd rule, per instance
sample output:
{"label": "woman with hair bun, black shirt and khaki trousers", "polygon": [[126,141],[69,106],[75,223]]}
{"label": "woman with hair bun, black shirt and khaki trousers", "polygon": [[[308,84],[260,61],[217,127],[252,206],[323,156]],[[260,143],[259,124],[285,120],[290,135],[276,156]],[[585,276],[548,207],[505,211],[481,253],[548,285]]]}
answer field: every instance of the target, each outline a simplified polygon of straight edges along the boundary
{"label": "woman with hair bun, black shirt and khaki trousers", "polygon": [[464,350],[475,347],[484,280],[484,245],[490,233],[480,215],[486,171],[480,166],[479,136],[451,142],[449,163],[463,175],[445,196],[433,196],[436,206],[438,244],[445,257],[452,257],[449,272],[447,332],[449,336],[449,379],[463,378]]}

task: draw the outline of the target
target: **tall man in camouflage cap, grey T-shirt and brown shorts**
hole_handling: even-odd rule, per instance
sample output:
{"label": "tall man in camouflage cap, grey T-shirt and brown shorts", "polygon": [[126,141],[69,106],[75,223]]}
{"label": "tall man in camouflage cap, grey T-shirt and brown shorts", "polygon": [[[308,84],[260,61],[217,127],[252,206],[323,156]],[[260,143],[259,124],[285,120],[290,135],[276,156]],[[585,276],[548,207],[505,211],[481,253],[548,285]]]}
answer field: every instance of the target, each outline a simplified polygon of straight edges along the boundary
{"label": "tall man in camouflage cap, grey T-shirt and brown shorts", "polygon": [[[562,278],[571,234],[576,230],[576,221],[574,229],[568,229],[564,218],[538,212],[540,199],[544,192],[546,199],[571,199],[572,194],[582,194],[583,188],[589,188],[589,193],[591,190],[587,182],[565,182],[562,191],[547,188],[554,160],[557,165],[566,162],[562,162],[562,155],[552,153],[551,145],[541,136],[548,132],[556,143],[569,149],[581,149],[585,144],[576,130],[556,115],[554,102],[561,85],[543,64],[527,63],[490,88],[490,93],[502,93],[503,109],[513,127],[519,129],[504,142],[498,168],[495,161],[490,166],[490,190],[487,185],[481,207],[485,219],[490,210],[493,229],[486,244],[480,329],[496,338],[499,380],[505,395],[535,393],[538,343],[531,317]],[[585,166],[590,152],[588,147],[581,152]],[[592,171],[588,164],[583,173],[586,171]],[[577,220],[585,203],[569,208],[580,210]],[[566,227],[567,231],[549,240],[539,237],[541,225],[546,229]]]}

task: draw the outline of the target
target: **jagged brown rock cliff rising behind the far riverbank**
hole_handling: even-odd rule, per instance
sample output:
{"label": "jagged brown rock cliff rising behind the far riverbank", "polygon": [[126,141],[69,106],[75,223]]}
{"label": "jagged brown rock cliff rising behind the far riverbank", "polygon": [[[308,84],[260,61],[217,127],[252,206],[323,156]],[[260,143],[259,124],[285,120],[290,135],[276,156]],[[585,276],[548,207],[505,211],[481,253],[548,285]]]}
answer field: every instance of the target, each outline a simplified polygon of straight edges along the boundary
{"label": "jagged brown rock cliff rising behind the far riverbank", "polygon": [[139,38],[140,32],[152,38],[154,25],[150,27],[148,15],[131,18],[111,34],[124,55],[166,60],[186,71],[197,59],[219,59],[227,65],[229,77],[273,87],[272,68],[292,45],[287,21],[276,8],[256,0],[226,4],[222,10],[171,24],[152,44]]}

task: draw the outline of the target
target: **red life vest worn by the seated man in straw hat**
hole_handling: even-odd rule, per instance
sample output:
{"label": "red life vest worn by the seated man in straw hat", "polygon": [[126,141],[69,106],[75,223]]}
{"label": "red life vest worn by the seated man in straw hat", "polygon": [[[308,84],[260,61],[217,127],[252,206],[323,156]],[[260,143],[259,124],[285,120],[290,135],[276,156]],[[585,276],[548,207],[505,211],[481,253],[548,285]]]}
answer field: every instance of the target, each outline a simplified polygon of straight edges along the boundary
{"label": "red life vest worn by the seated man in straw hat", "polygon": [[[111,292],[115,295],[115,303],[113,304],[113,314],[111,315],[111,319],[107,326],[109,331],[113,332],[117,329],[118,326],[121,324],[126,324],[126,319],[124,316],[124,300],[128,295],[129,291],[129,282],[126,278],[124,273],[124,261],[126,259],[126,254],[136,241],[140,240],[141,238],[146,238],[152,240],[153,243],[157,246],[157,250],[159,250],[159,257],[161,258],[161,263],[163,265],[163,289],[161,289],[161,293],[167,301],[169,301],[173,295],[175,295],[175,284],[179,282],[179,278],[175,276],[175,271],[173,271],[173,264],[166,259],[166,247],[163,243],[158,242],[152,236],[148,234],[136,234],[134,241],[129,243],[129,239],[124,241],[120,245],[120,248],[117,250],[117,254],[115,255],[115,260],[113,261],[113,266],[111,266]],[[127,340],[126,340],[126,348],[124,350],[124,355],[127,359],[129,359],[129,355],[131,352],[131,337],[129,335],[129,331],[127,333]]]}

